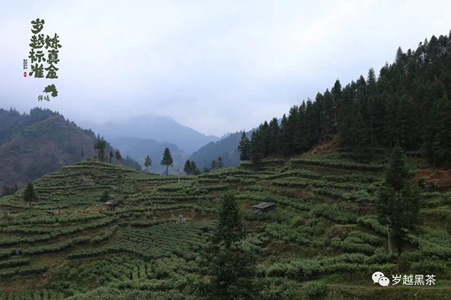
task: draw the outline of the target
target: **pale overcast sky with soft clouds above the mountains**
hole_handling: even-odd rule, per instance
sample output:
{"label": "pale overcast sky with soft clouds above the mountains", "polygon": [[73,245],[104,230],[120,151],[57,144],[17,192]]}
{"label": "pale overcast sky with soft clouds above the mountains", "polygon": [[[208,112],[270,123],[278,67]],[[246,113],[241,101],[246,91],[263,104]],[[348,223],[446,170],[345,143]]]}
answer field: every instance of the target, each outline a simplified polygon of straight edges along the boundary
{"label": "pale overcast sky with soft clouds above the mountains", "polygon": [[[450,0],[1,1],[0,107],[78,124],[154,113],[217,136],[451,28]],[[23,77],[36,18],[63,46],[54,81]],[[58,97],[38,103],[51,83]]]}

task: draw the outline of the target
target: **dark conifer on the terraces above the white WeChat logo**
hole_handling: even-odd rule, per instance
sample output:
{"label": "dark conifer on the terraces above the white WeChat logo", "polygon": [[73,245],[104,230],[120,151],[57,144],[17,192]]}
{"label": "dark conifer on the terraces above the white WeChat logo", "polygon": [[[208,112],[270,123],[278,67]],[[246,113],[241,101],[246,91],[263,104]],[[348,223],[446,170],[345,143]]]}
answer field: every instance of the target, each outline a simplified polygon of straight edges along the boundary
{"label": "dark conifer on the terraces above the white WeChat logo", "polygon": [[388,252],[392,253],[392,242],[395,242],[401,254],[405,236],[419,224],[420,193],[409,181],[407,157],[402,148],[393,148],[391,156],[379,194],[378,217],[387,226]]}

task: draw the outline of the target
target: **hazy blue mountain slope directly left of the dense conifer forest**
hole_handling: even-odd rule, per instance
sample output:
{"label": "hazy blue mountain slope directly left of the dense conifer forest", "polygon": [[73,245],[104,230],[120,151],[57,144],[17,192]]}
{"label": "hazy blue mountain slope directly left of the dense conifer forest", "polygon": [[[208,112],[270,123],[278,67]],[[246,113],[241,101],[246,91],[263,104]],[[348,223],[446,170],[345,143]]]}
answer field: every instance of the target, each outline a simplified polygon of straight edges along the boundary
{"label": "hazy blue mountain slope directly left of the dense conifer forest", "polygon": [[[252,131],[247,131],[246,136],[250,139]],[[192,153],[190,160],[196,162],[197,167],[204,169],[204,167],[210,167],[213,160],[217,160],[218,157],[223,159],[226,167],[234,167],[240,164],[240,152],[237,147],[240,143],[242,131],[230,133],[226,138],[221,141],[210,142],[204,145],[202,148]]]}

